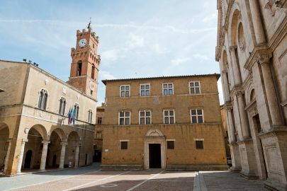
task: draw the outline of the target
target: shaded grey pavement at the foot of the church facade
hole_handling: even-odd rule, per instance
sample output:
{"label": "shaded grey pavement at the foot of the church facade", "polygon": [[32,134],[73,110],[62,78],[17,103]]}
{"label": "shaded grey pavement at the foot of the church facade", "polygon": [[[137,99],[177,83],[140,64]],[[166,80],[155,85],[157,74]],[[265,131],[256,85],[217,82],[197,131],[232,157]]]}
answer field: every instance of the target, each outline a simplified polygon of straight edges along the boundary
{"label": "shaded grey pavement at the foot of the church facade", "polygon": [[196,173],[195,189],[201,191],[261,191],[264,180],[247,180],[230,171],[200,171]]}

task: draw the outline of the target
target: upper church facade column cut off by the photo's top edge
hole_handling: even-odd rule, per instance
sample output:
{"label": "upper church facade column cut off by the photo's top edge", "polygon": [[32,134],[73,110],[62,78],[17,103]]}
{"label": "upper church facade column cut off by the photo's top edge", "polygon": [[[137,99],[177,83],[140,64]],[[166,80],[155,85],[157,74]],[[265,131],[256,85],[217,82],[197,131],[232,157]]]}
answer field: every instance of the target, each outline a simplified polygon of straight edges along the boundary
{"label": "upper church facade column cut off by the photo's top edge", "polygon": [[248,1],[248,2],[250,5],[250,11],[252,15],[252,23],[254,26],[256,42],[257,42],[257,45],[259,45],[259,44],[266,42],[264,28],[261,22],[261,16],[259,12],[259,4],[257,0]]}

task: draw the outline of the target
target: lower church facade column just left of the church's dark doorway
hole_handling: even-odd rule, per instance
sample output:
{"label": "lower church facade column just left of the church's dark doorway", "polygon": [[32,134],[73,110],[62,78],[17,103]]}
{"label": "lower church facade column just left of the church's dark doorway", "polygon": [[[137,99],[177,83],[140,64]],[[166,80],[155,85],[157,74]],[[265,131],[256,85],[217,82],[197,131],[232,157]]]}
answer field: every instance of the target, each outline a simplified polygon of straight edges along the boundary
{"label": "lower church facade column just left of the church's dark doorway", "polygon": [[238,107],[240,111],[240,122],[242,126],[242,137],[243,139],[249,138],[249,126],[247,122],[246,112],[245,112],[245,105],[243,101],[243,95],[242,92],[237,92],[237,100],[238,100]]}

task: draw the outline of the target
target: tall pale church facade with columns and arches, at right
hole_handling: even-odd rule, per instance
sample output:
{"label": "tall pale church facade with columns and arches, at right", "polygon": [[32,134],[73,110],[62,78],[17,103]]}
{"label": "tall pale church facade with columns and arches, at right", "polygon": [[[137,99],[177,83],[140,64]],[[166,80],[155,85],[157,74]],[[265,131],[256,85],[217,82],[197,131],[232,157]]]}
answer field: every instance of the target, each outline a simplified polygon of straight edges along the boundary
{"label": "tall pale church facade with columns and arches, at right", "polygon": [[287,190],[287,1],[218,0],[232,170]]}

